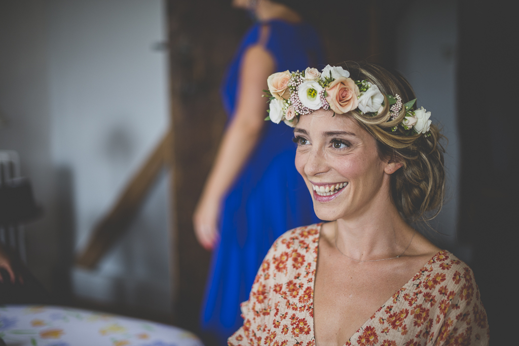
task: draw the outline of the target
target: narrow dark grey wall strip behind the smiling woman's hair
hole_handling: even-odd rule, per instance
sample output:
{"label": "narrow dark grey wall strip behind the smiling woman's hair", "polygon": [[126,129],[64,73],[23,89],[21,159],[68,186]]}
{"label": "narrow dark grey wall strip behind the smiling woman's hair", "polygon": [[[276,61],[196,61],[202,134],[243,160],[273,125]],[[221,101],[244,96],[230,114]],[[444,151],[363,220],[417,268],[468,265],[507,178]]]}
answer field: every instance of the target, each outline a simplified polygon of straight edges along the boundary
{"label": "narrow dark grey wall strip behind the smiling woman's hair", "polygon": [[398,32],[397,68],[413,86],[417,104],[431,111],[433,122],[443,126],[443,134],[448,138],[445,154],[448,201],[431,225],[449,235],[441,237],[441,243],[459,253],[455,241],[460,160],[456,115],[456,2],[410,2],[404,16]]}

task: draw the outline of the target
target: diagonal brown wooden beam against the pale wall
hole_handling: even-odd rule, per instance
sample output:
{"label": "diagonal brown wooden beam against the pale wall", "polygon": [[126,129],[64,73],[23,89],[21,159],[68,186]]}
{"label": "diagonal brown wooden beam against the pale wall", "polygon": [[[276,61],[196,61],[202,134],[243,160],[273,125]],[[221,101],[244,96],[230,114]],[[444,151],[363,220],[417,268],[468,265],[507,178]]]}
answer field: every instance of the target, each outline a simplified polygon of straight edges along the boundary
{"label": "diagonal brown wooden beam against the pale wall", "polygon": [[170,143],[171,131],[168,131],[128,182],[112,210],[95,226],[87,247],[76,259],[77,265],[94,268],[116,240],[126,232],[158,173],[169,162]]}

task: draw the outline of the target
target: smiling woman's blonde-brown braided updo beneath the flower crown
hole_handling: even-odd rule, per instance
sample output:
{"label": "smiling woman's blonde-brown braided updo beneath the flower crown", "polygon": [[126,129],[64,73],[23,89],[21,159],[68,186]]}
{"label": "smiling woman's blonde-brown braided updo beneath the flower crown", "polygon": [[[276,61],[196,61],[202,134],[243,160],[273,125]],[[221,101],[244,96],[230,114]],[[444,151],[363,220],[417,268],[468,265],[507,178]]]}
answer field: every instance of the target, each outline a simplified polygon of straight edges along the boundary
{"label": "smiling woman's blonde-brown braided updo beneath the flower crown", "polygon": [[[424,134],[405,135],[403,127],[399,126],[405,116],[404,107],[398,117],[391,120],[385,95],[398,94],[403,103],[416,98],[411,85],[400,73],[389,73],[372,63],[345,65],[350,78],[376,84],[385,97],[384,110],[374,117],[361,114],[358,109],[348,114],[377,140],[382,160],[402,164],[391,175],[394,204],[409,222],[433,219],[440,212],[445,196],[445,150],[439,143],[443,135],[434,124],[431,124],[427,137]],[[392,131],[394,126],[397,126],[395,132]]]}

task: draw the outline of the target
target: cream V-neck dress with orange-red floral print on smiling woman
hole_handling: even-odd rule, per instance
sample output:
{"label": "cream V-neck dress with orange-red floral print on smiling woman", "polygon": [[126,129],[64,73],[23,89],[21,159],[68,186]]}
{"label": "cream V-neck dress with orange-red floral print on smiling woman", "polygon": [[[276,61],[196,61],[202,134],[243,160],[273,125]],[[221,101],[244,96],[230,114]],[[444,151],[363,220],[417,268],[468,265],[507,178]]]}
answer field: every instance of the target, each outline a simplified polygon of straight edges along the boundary
{"label": "cream V-neck dress with orange-red floral print on smiling woman", "polygon": [[[294,228],[265,257],[243,326],[228,339],[238,345],[315,345],[313,285],[322,224]],[[472,270],[440,251],[354,333],[345,346],[488,345],[485,309]]]}

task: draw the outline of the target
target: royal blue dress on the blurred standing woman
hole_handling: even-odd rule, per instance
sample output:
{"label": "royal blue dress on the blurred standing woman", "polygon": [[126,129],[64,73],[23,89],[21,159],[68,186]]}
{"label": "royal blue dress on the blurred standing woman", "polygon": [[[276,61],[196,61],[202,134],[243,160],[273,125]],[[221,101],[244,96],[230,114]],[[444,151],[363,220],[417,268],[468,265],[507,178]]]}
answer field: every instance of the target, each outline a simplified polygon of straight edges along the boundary
{"label": "royal blue dress on the blurred standing woman", "polygon": [[[243,53],[258,42],[262,25],[270,26],[265,48],[275,59],[276,71],[322,67],[320,40],[308,24],[272,20],[254,25],[223,81],[229,119],[236,107]],[[201,313],[202,329],[221,344],[227,344],[227,338],[243,324],[240,302],[247,300],[274,240],[288,229],[319,221],[304,180],[295,169],[292,137],[291,127],[266,122],[256,149],[224,199],[220,243],[213,252]]]}

